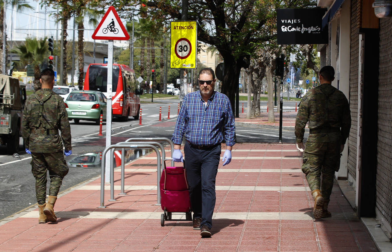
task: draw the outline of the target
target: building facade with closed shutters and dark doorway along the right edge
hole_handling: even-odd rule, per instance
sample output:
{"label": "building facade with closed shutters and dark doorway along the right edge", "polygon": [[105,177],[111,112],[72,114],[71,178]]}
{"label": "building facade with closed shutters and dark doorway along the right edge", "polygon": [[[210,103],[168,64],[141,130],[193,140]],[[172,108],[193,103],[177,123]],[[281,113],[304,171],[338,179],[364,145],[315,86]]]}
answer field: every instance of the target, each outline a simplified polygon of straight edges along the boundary
{"label": "building facade with closed shutters and dark doorway along the right edge", "polygon": [[[392,231],[392,20],[374,15],[374,0],[319,0],[327,7],[329,42],[318,45],[321,67],[349,100],[352,125],[336,178],[354,189],[359,218]],[[342,190],[343,192],[345,190]],[[349,196],[346,195],[348,198]],[[349,200],[350,201],[350,200]]]}

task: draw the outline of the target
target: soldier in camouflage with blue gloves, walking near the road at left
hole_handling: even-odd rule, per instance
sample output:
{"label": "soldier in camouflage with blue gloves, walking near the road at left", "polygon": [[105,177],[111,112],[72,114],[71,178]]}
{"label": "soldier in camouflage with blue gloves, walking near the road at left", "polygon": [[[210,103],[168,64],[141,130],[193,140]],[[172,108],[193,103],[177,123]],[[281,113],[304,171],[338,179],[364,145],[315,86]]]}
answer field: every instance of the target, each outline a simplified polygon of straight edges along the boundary
{"label": "soldier in camouflage with blue gloves, walking near the road at left", "polygon": [[[31,172],[35,178],[35,190],[38,201],[38,223],[56,221],[54,203],[62,180],[68,173],[63,155],[72,154],[71,127],[67,111],[61,96],[52,91],[54,71],[45,69],[41,73],[42,88],[35,91],[26,100],[23,111],[22,136],[26,152],[31,154]],[[58,131],[61,131],[61,137]],[[49,171],[50,187],[46,199],[46,173]]]}

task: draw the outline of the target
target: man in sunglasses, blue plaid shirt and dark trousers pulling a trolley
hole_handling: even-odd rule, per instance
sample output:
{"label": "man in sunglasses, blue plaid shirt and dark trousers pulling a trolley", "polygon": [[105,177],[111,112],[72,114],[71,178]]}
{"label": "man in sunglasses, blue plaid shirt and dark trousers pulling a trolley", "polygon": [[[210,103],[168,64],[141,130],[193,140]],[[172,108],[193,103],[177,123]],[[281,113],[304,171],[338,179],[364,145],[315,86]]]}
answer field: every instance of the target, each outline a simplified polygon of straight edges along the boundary
{"label": "man in sunglasses, blue plaid shirt and dark trousers pulling a trolley", "polygon": [[200,91],[187,94],[181,104],[172,141],[175,162],[183,162],[182,138],[185,134],[185,169],[193,211],[193,229],[202,237],[211,236],[212,214],[215,207],[215,178],[225,141],[223,165],[231,161],[235,144],[234,116],[227,96],[214,91],[214,71],[203,68],[199,73]]}

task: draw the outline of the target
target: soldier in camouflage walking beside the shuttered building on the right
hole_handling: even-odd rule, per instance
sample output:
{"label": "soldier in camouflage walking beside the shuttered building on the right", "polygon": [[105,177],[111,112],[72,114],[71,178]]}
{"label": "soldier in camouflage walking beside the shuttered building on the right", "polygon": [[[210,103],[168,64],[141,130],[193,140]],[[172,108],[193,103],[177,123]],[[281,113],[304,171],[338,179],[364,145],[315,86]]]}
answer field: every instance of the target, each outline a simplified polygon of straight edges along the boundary
{"label": "soldier in camouflage walking beside the shuttered building on the right", "polygon": [[[347,98],[331,85],[334,75],[333,67],[328,65],[321,68],[321,85],[310,89],[302,98],[295,125],[297,148],[304,151],[302,171],[312,190],[315,219],[332,216],[328,212],[328,203],[334,174],[339,170],[341,152],[351,127]],[[307,122],[309,137],[304,148],[303,134]]]}

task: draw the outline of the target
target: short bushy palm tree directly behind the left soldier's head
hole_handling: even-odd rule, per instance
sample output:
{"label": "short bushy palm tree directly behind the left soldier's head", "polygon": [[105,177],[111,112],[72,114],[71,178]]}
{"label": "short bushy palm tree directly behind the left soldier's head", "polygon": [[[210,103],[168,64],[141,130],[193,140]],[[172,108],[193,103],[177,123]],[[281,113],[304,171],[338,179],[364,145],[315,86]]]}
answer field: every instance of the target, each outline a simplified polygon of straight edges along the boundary
{"label": "short bushy palm tree directly behind the left soldier's head", "polygon": [[22,64],[31,64],[34,67],[34,89],[41,88],[40,72],[41,63],[47,60],[47,43],[46,37],[37,40],[37,38],[26,38],[24,44],[11,49],[11,53],[16,53],[20,57]]}

